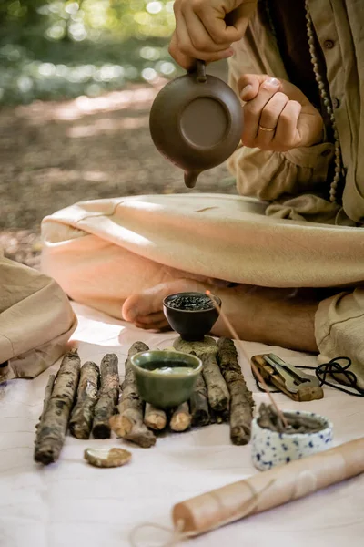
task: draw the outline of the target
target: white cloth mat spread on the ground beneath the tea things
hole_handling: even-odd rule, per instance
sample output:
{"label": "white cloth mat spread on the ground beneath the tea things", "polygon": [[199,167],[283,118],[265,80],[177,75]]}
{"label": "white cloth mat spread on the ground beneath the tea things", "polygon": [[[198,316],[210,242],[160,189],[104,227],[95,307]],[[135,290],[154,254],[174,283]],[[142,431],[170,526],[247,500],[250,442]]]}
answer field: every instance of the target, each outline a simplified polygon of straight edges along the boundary
{"label": "white cloth mat spread on the ground beneath the tea things", "polygon": [[[79,325],[73,340],[81,361],[110,352],[119,357],[120,376],[128,348],[136,340],[149,347],[172,345],[175,333],[153,334],[74,304]],[[244,343],[249,356],[266,346]],[[315,357],[278,348],[293,364],[314,366]],[[257,403],[266,400],[255,385],[247,360],[240,356],[248,387]],[[144,521],[171,525],[177,501],[247,478],[255,470],[250,446],[235,447],[227,425],[167,434],[151,449],[120,439],[66,438],[56,464],[33,460],[35,424],[45,385],[59,363],[35,380],[13,380],[0,386],[0,546],[1,547],[127,547],[128,535]],[[281,408],[307,409],[330,418],[335,444],[364,435],[364,401],[325,387],[325,397],[294,403],[276,395]],[[87,447],[125,447],[133,453],[126,467],[96,469],[83,459]],[[364,454],[363,454],[364,458]],[[162,532],[141,534],[141,547],[166,541]],[[321,490],[307,498],[210,532],[191,547],[359,547],[364,544],[364,475]]]}

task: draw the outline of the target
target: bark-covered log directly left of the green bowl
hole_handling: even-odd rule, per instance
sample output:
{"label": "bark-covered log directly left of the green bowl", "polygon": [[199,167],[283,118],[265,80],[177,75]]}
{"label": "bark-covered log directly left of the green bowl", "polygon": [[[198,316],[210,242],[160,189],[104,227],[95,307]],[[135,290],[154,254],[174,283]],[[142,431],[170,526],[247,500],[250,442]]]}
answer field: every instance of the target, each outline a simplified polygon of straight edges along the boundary
{"label": "bark-covered log directly left of the green bowl", "polygon": [[135,342],[126,358],[126,375],[118,405],[119,414],[110,418],[110,426],[118,437],[135,442],[148,449],[156,444],[156,437],[144,423],[143,401],[138,395],[136,377],[130,357],[149,348],[143,342]]}

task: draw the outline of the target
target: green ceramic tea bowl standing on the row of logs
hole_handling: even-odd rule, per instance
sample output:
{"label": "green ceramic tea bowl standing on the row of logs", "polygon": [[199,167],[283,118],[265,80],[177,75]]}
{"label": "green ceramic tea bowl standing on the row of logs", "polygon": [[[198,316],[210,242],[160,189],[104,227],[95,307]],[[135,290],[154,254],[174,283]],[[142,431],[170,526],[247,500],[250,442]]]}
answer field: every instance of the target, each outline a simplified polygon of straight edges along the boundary
{"label": "green ceramic tea bowl standing on the row of logs", "polygon": [[193,392],[202,362],[178,351],[149,350],[130,358],[139,396],[157,408],[173,408]]}

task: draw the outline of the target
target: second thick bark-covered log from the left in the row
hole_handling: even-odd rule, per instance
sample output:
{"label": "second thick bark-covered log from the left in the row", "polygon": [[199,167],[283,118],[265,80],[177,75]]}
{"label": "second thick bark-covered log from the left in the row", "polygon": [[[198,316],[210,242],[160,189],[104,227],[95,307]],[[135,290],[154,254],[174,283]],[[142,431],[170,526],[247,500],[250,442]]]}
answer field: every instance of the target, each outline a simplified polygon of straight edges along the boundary
{"label": "second thick bark-covered log from the left in the row", "polygon": [[89,439],[90,437],[94,410],[98,400],[99,378],[98,366],[92,361],[86,361],[81,368],[76,406],[69,421],[70,433],[76,439]]}

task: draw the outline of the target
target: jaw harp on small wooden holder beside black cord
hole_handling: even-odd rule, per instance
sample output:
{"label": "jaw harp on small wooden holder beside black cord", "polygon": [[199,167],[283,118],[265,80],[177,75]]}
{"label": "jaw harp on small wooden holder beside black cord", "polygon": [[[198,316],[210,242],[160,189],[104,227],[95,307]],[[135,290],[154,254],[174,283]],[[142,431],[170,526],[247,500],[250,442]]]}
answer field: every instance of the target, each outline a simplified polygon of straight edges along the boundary
{"label": "jaw harp on small wooden holder beside black cord", "polygon": [[293,400],[310,401],[324,397],[319,378],[302,372],[275,354],[254,356],[252,361],[267,382]]}

